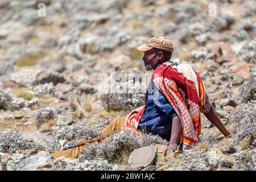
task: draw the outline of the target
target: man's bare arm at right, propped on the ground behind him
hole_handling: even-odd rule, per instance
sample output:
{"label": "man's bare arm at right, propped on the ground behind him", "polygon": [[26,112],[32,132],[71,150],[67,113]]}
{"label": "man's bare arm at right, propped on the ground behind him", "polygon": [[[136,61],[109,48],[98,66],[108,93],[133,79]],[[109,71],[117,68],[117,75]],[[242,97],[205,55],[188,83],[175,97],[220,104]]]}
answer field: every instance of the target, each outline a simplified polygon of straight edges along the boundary
{"label": "man's bare arm at right, propped on the ground behind him", "polygon": [[225,137],[232,137],[233,133],[230,133],[226,129],[226,127],[221,122],[220,117],[218,117],[218,114],[216,113],[212,106],[210,106],[210,111],[208,113],[204,113],[204,115],[207,117],[207,119],[209,119],[210,122],[213,123],[213,125],[215,125],[218,128],[218,130],[221,131],[222,134],[225,135]]}

